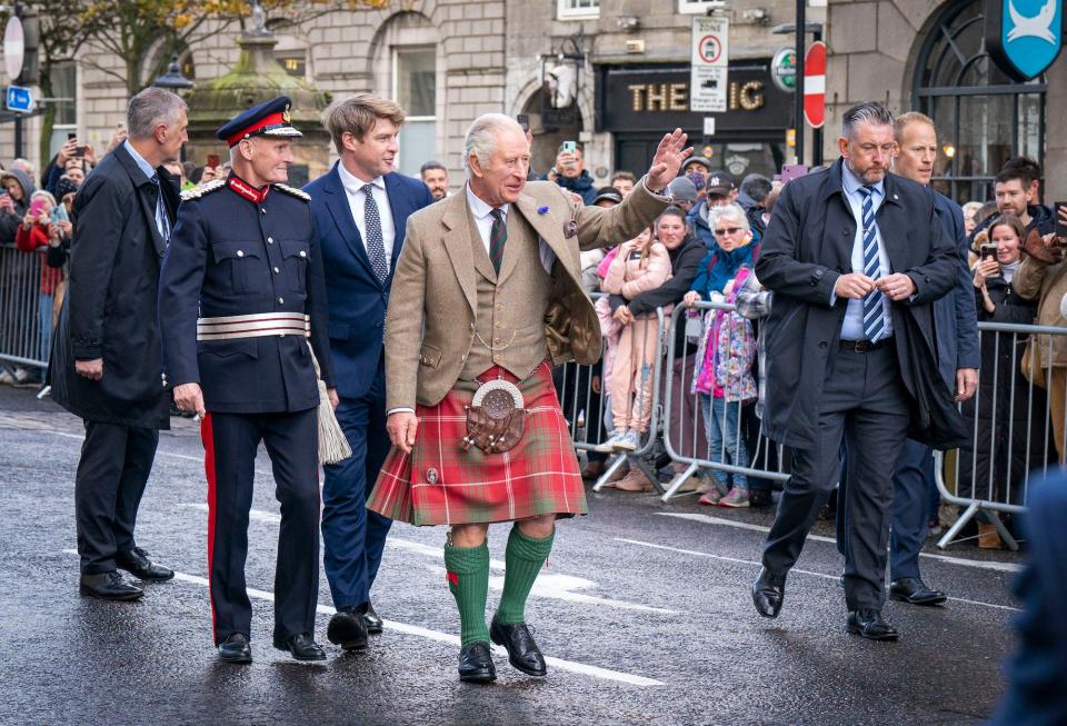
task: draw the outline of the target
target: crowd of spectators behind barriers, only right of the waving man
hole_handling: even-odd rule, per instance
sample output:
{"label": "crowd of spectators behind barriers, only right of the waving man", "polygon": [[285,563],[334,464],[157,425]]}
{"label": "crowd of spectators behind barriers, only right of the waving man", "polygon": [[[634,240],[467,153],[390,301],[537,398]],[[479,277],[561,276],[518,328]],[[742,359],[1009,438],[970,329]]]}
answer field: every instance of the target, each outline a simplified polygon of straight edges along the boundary
{"label": "crowd of spectators behind barriers, only right of the waving man", "polygon": [[[574,152],[560,148],[556,166],[544,178],[597,206],[619,203],[632,189],[636,179],[626,171],[610,176],[611,187],[594,189],[587,163],[580,146]],[[1040,202],[1040,179],[1041,169],[1031,159],[1009,159],[994,179],[991,199],[961,208],[979,322],[1067,322],[1060,310],[1067,265],[1054,235],[1056,215]],[[710,159],[691,157],[670,183],[674,206],[649,230],[619,240],[607,252],[582,252],[584,285],[601,296],[596,309],[606,356],[591,374],[574,369],[559,376],[557,387],[565,415],[585,425],[580,440],[598,444],[587,450],[586,476],[601,476],[610,454],[635,450],[650,466],[627,473],[624,465],[614,483],[620,489],[650,490],[648,470],[660,468],[666,478],[681,468],[665,467],[669,459],[662,447],[647,439],[650,378],[659,352],[649,331],[655,331],[656,308],[669,316],[679,304],[727,304],[690,311],[688,325],[678,326],[675,349],[676,357],[685,357],[684,379],[678,379],[677,360],[666,362],[675,365],[676,384],[689,395],[691,408],[672,412],[692,419],[681,425],[684,438],[696,427],[704,444],[687,454],[722,465],[695,477],[701,504],[770,503],[767,483],[738,469],[755,467],[750,455],[760,446],[760,319],[768,315],[772,296],[752,270],[780,189],[777,179],[750,173],[738,182]],[[1060,223],[1067,225],[1067,210]],[[947,476],[961,496],[1021,503],[1028,473],[1057,456],[1063,459],[1067,336],[1037,337],[1030,345],[1027,340],[1025,334],[987,330],[981,336],[979,391],[963,405],[975,445],[960,451],[955,474]],[[1024,375],[1024,346],[1034,351],[1037,362],[1030,365],[1038,376]],[[1031,385],[1031,378],[1038,385]],[[675,432],[679,421],[664,426]],[[936,488],[931,496],[936,499]],[[936,515],[931,529],[940,530]],[[991,525],[979,521],[978,529],[983,546],[999,545],[995,534],[990,537]]]}

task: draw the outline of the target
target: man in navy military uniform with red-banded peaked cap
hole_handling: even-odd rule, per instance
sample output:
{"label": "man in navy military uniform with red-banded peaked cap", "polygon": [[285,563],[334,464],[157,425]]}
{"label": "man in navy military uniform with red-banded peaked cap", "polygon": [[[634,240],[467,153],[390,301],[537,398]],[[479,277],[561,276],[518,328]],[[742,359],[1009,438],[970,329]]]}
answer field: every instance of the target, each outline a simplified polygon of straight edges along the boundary
{"label": "man in navy military uniform with red-banded peaked cap", "polygon": [[203,417],[215,642],[220,658],[231,663],[252,657],[245,559],[260,441],[281,503],[273,645],[298,660],[326,657],[313,639],[315,359],[335,405],[336,392],[310,198],[283,183],[292,139],[301,136],[290,123],[289,103],[276,98],[218,130],[230,147],[233,171],[182,195],[160,279],[166,375],[178,407]]}

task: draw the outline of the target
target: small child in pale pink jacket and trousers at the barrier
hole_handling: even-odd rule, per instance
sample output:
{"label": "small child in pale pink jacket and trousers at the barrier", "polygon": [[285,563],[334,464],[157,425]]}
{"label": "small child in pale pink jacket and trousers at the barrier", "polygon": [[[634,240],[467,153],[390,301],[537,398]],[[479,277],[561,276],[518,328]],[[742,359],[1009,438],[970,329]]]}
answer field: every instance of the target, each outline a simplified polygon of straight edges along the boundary
{"label": "small child in pale pink jacket and trousers at the barrier", "polygon": [[[632,300],[670,279],[670,256],[667,248],[652,240],[650,230],[622,242],[608,260],[600,289]],[[601,330],[611,332],[619,324],[612,318],[607,298],[597,301]],[[614,324],[614,325],[612,325]],[[609,345],[611,336],[608,336]],[[651,419],[652,369],[659,341],[659,324],[655,312],[636,318],[618,329],[614,362],[605,379],[611,396],[615,428],[604,448],[634,451]]]}

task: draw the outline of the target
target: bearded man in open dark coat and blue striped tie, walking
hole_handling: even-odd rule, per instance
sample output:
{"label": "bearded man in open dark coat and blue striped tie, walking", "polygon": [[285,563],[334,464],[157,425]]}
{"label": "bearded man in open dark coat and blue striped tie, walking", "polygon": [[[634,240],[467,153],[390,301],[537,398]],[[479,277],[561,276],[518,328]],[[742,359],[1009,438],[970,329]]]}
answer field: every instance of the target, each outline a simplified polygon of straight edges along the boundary
{"label": "bearded man in open dark coat and blue striped tie, walking", "polygon": [[778,615],[786,574],[837,480],[844,439],[848,629],[895,639],[881,617],[893,503],[886,463],[896,461],[913,419],[929,428],[931,411],[947,409],[958,422],[937,375],[930,304],[953,289],[959,262],[933,192],[887,172],[891,113],[864,103],[842,121],[842,159],[786,185],[756,263],[775,292],[767,429],[795,454],[752,599],[761,615]]}

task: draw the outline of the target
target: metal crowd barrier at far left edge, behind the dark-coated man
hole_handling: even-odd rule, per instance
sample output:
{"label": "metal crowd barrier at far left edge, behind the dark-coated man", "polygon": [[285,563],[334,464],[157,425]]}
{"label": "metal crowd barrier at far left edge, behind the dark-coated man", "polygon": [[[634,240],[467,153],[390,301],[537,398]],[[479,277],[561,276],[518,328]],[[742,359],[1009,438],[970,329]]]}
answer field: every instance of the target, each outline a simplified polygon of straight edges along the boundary
{"label": "metal crowd barrier at far left edge, behind the dark-coated man", "polygon": [[41,334],[40,252],[23,252],[13,245],[0,245],[0,361],[13,366],[48,367]]}

